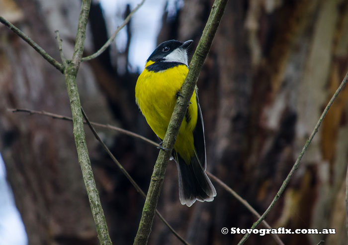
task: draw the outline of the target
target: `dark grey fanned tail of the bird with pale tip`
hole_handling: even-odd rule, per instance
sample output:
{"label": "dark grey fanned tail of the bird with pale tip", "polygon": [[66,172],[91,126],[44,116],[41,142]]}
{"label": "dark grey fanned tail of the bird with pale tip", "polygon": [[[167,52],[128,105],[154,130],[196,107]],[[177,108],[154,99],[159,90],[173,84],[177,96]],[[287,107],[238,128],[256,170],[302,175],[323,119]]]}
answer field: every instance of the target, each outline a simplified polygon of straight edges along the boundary
{"label": "dark grey fanned tail of the bird with pale tip", "polygon": [[216,190],[195,154],[190,164],[174,151],[174,159],[179,179],[179,198],[182,205],[190,207],[196,200],[211,202]]}

